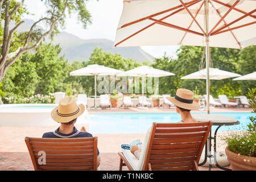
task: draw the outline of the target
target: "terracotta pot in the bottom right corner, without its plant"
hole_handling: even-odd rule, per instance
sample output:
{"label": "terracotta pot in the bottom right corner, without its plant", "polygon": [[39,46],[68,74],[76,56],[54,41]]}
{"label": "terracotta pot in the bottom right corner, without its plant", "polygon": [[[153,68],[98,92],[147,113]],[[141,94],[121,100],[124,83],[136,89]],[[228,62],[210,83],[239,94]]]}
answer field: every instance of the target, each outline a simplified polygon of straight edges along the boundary
{"label": "terracotta pot in the bottom right corner, without its plant", "polygon": [[235,152],[225,149],[226,156],[233,171],[256,171],[256,158],[238,155]]}

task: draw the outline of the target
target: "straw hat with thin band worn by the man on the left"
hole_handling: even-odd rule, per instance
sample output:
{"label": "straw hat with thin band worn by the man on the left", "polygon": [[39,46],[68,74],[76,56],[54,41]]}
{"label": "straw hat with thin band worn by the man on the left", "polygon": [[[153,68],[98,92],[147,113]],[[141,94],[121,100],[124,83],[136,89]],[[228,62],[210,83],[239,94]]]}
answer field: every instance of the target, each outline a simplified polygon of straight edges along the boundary
{"label": "straw hat with thin band worn by the man on the left", "polygon": [[67,123],[84,113],[85,106],[77,105],[73,97],[61,98],[59,106],[52,110],[51,117],[58,123]]}

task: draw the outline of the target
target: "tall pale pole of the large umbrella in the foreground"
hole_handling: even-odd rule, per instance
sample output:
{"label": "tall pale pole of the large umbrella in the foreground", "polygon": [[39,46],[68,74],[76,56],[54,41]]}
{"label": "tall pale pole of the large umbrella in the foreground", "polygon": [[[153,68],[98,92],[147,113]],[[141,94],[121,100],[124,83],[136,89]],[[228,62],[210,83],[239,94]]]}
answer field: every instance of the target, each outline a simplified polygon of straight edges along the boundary
{"label": "tall pale pole of the large umbrella in the foreground", "polygon": [[[205,1],[205,29],[208,34],[209,26],[209,1]],[[205,37],[206,40],[206,69],[207,69],[207,114],[210,114],[210,76],[209,76],[209,61],[210,61],[210,48],[209,48],[209,36]]]}

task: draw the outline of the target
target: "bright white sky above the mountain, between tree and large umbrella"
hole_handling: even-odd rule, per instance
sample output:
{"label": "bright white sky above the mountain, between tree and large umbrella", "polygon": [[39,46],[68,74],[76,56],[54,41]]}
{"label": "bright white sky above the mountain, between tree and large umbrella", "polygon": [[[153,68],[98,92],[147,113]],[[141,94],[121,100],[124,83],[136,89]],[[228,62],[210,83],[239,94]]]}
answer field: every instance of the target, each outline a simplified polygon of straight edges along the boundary
{"label": "bright white sky above the mountain, between tree and large umbrella", "polygon": [[[34,15],[25,15],[24,18],[38,20],[44,14],[44,2],[41,0],[25,0],[24,4],[28,11]],[[81,39],[109,39],[114,41],[115,31],[119,18],[122,14],[122,0],[90,0],[86,2],[86,9],[92,15],[92,24],[84,29],[81,23],[77,22],[75,15],[67,18],[65,29],[61,31],[69,32]],[[144,51],[154,57],[162,57],[164,52],[168,56],[175,56],[179,46],[142,46]]]}

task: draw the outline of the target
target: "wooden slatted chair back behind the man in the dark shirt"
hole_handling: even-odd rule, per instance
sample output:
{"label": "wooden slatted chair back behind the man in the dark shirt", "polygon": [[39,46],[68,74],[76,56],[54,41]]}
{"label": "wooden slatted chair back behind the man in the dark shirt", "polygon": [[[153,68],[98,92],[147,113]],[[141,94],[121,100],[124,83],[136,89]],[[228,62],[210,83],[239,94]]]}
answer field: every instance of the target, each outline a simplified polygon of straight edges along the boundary
{"label": "wooden slatted chair back behind the man in the dark shirt", "polygon": [[[35,171],[97,169],[97,137],[25,138]],[[44,153],[45,152],[45,153]],[[43,161],[44,155],[45,161]]]}

